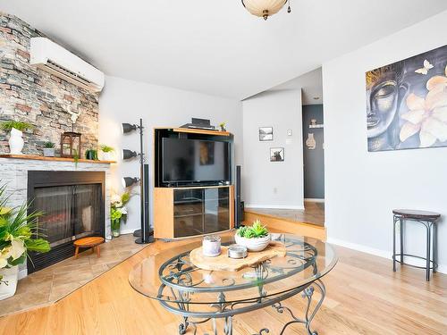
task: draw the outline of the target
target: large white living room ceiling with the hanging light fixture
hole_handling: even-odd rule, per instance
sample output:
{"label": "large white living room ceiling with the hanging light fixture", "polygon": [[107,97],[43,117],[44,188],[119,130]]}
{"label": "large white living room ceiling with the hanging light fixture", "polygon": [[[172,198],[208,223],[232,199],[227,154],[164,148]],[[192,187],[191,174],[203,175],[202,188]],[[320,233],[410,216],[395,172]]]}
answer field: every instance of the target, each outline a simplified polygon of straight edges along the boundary
{"label": "large white living room ceiling with the hanging light fixture", "polygon": [[108,75],[244,98],[447,9],[445,0],[0,0]]}

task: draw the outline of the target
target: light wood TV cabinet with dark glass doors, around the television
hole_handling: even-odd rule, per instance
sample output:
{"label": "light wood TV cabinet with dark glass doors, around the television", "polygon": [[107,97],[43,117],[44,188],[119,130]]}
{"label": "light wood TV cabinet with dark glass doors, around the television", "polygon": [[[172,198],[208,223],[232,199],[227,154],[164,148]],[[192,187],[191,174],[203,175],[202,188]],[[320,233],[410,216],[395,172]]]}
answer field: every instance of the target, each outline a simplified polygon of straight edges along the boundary
{"label": "light wood TV cabinet with dark glass doors, around the television", "polygon": [[[226,131],[182,128],[154,130],[154,237],[183,239],[231,230],[234,227],[235,205],[232,183],[190,187],[167,187],[163,184],[162,139],[176,137],[226,141],[230,143],[230,151],[233,153],[233,136]],[[232,158],[230,162],[233,162]]]}

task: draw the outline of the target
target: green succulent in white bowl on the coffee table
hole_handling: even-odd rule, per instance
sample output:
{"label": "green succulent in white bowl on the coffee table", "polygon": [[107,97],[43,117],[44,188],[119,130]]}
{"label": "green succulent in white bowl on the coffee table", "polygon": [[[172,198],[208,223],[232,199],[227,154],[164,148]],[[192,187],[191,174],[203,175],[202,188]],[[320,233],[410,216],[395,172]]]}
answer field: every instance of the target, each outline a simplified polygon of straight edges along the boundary
{"label": "green succulent in white bowl on the coffee table", "polygon": [[270,234],[259,220],[253,222],[251,227],[240,227],[234,236],[236,244],[247,247],[249,251],[262,251],[270,243]]}

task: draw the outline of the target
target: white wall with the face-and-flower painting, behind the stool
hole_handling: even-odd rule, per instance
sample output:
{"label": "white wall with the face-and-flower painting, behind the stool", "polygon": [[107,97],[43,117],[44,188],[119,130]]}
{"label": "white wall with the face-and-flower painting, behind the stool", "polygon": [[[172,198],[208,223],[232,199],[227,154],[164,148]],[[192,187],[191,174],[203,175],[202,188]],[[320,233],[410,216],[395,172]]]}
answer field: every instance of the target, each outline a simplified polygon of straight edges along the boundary
{"label": "white wall with the face-and-flower painting, behind the stool", "polygon": [[[445,31],[447,12],[323,65],[325,223],[330,241],[391,256],[393,208],[447,214],[447,147],[368,153],[365,102],[366,71],[447,44]],[[411,226],[408,236],[409,251],[424,253],[425,231]],[[443,272],[445,238],[447,222],[441,222]]]}

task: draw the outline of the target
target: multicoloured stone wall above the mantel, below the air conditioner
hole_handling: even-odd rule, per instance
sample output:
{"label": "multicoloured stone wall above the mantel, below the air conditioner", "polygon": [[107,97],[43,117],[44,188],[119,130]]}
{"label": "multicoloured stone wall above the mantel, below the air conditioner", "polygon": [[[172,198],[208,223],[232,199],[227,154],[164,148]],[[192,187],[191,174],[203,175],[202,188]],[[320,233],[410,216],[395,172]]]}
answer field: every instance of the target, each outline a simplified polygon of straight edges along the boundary
{"label": "multicoloured stone wall above the mantel, below the air conditioner", "polygon": [[[0,121],[28,121],[24,154],[41,155],[52,141],[59,152],[61,134],[72,130],[71,114],[80,113],[74,131],[82,134],[82,153],[97,147],[98,94],[30,65],[30,38],[43,37],[15,16],[0,12]],[[9,153],[8,134],[0,130],[0,154]]]}

